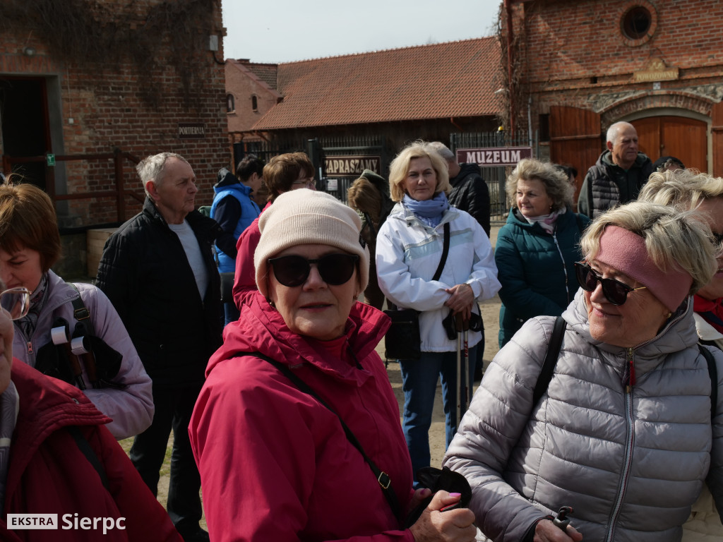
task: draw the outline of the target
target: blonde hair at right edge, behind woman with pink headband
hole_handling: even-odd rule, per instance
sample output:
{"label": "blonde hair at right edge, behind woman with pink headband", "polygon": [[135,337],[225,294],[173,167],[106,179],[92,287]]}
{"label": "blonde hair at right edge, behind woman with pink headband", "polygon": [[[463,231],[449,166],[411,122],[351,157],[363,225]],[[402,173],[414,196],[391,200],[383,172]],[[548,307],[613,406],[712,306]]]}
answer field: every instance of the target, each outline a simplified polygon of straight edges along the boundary
{"label": "blonde hair at right edge, behind woman with pink headband", "polygon": [[716,197],[723,197],[723,178],[695,169],[676,169],[651,173],[638,200],[687,211]]}

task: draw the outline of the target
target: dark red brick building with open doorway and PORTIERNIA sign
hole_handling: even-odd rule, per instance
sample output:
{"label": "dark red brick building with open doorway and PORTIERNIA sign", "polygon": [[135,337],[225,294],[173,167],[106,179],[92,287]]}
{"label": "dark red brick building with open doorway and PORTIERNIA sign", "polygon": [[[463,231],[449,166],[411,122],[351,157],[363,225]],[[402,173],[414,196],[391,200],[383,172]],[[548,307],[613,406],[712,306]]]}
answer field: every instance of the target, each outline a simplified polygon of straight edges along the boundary
{"label": "dark red brick building with open doorway and PORTIERNIA sign", "polygon": [[0,30],[3,170],[46,189],[61,227],[134,215],[135,162],[156,152],[187,158],[210,202],[229,163],[221,0],[5,0]]}

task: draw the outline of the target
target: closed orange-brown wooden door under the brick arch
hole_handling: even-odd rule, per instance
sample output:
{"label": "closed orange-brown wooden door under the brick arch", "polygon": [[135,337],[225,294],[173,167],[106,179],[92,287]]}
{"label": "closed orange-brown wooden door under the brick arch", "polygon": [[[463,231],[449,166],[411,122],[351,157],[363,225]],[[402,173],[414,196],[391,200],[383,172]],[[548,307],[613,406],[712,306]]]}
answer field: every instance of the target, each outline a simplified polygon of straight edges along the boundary
{"label": "closed orange-brown wooden door under the brick arch", "polygon": [[651,116],[631,121],[638,132],[638,149],[654,162],[675,156],[686,168],[708,171],[708,126],[682,116]]}

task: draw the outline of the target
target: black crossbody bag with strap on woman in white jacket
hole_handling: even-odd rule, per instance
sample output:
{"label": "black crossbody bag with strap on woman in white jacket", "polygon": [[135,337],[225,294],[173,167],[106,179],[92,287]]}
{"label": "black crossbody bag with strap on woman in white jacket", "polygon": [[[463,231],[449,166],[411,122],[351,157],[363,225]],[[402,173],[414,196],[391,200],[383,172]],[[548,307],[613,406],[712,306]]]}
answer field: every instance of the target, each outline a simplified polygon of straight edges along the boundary
{"label": "black crossbody bag with strap on woman in white jacket", "polygon": [[[450,251],[450,223],[445,223],[442,258],[432,280],[440,280]],[[384,311],[392,325],[384,336],[384,357],[387,359],[419,359],[422,356],[422,337],[419,335],[419,311],[394,309]]]}

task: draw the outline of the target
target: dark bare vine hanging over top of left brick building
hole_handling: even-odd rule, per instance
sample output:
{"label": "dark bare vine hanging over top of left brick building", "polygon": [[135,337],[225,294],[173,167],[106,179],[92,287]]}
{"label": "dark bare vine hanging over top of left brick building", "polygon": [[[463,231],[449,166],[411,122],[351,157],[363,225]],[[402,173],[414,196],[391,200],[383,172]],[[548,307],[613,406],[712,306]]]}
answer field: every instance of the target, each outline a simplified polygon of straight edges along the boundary
{"label": "dark bare vine hanging over top of left brick building", "polygon": [[211,77],[208,37],[221,32],[215,27],[216,9],[220,12],[221,0],[163,0],[150,6],[137,0],[2,0],[0,29],[25,29],[54,58],[87,72],[131,63],[138,92],[155,108],[167,84],[155,76],[172,67],[188,108],[197,98],[194,88]]}

